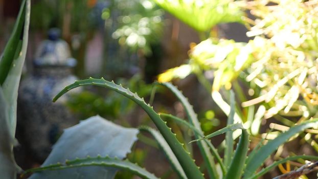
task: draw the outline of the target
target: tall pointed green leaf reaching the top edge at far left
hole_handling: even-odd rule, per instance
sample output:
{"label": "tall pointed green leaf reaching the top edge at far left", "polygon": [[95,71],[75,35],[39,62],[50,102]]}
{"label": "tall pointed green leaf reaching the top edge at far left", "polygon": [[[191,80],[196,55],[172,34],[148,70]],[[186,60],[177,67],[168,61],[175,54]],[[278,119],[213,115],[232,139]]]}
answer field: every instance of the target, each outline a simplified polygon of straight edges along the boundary
{"label": "tall pointed green leaf reaching the top edge at far left", "polygon": [[[15,135],[16,127],[16,102],[18,95],[18,86],[28,47],[28,33],[31,9],[30,4],[30,0],[22,2],[13,34],[10,37],[4,55],[0,60],[1,85],[3,88],[3,93],[5,95],[5,99],[9,104],[8,124],[12,136]],[[20,39],[21,37],[22,39]]]}

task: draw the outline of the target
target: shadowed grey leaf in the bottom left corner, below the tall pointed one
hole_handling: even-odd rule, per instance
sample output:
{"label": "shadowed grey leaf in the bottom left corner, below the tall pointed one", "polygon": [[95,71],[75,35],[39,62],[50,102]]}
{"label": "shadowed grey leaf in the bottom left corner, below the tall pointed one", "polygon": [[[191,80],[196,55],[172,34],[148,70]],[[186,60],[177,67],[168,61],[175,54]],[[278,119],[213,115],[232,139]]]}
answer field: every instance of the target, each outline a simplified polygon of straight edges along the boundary
{"label": "shadowed grey leaf in the bottom left corner, below the tall pointed one", "polygon": [[8,119],[8,105],[0,86],[0,173],[2,178],[16,178],[17,169],[12,151],[14,138],[9,131]]}

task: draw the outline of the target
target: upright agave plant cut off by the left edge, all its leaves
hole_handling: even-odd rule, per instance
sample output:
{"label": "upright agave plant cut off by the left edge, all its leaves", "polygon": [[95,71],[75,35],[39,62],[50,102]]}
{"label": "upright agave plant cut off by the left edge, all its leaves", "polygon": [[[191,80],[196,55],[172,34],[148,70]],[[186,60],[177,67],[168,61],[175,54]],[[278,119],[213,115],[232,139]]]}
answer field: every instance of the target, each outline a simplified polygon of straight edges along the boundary
{"label": "upright agave plant cut off by the left edge, all its leaves", "polygon": [[30,24],[30,1],[22,1],[12,35],[0,58],[0,171],[2,178],[15,178],[13,146],[18,86],[25,61]]}

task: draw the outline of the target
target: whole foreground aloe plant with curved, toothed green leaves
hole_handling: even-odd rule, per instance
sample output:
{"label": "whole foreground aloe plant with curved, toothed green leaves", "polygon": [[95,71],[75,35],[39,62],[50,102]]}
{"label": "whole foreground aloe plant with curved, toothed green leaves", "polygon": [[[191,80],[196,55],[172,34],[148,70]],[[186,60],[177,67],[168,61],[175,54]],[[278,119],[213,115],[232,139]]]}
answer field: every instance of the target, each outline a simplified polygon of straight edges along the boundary
{"label": "whole foreground aloe plant with curved, toothed green leaves", "polygon": [[[141,131],[147,131],[151,133],[154,139],[157,141],[162,151],[165,152],[168,161],[170,162],[172,168],[177,173],[179,178],[204,178],[203,174],[199,170],[199,167],[191,158],[189,153],[184,149],[183,145],[176,139],[174,133],[172,133],[171,129],[166,125],[166,122],[162,119],[168,118],[175,120],[176,122],[180,122],[183,125],[188,126],[194,133],[195,140],[191,141],[191,143],[196,142],[199,146],[200,152],[202,154],[202,158],[204,159],[204,163],[207,167],[207,171],[209,173],[209,178],[259,178],[270,169],[275,166],[285,163],[287,161],[304,159],[304,160],[318,160],[317,156],[308,156],[308,155],[298,155],[298,156],[290,156],[289,158],[277,161],[272,163],[271,165],[262,168],[264,161],[270,156],[272,152],[274,152],[281,144],[287,142],[291,137],[296,135],[297,133],[307,129],[307,128],[317,128],[318,119],[312,119],[305,121],[301,124],[295,125],[291,127],[286,132],[281,133],[274,140],[267,141],[267,143],[263,144],[263,141],[259,143],[259,145],[254,148],[249,154],[248,146],[249,146],[249,134],[247,130],[240,124],[234,124],[234,93],[231,93],[231,111],[228,118],[228,125],[225,128],[222,128],[218,131],[211,133],[208,136],[204,136],[202,129],[200,127],[200,123],[197,119],[197,115],[194,113],[194,110],[187,98],[183,96],[183,94],[178,91],[178,89],[172,85],[171,83],[158,83],[160,85],[166,86],[170,91],[176,95],[176,97],[183,104],[185,111],[187,113],[188,122],[179,119],[172,115],[167,114],[158,114],[155,112],[152,106],[147,104],[143,98],[140,98],[137,94],[132,93],[129,89],[124,88],[122,85],[115,84],[113,81],[106,81],[103,78],[101,79],[84,79],[76,81],[75,83],[66,86],[54,99],[56,101],[59,97],[61,97],[66,92],[70,91],[73,88],[84,86],[84,85],[96,85],[102,86],[112,91],[115,91],[119,94],[122,94],[126,98],[131,99],[135,103],[137,103],[140,107],[142,107],[145,112],[148,114],[150,119],[156,125],[157,130],[152,129],[150,127],[140,127]],[[234,139],[233,130],[241,130],[240,139],[236,146],[236,150],[234,150]],[[224,158],[220,157],[220,154],[213,146],[209,138],[220,135],[221,133],[225,133],[225,148],[224,148]],[[214,160],[215,159],[215,160]],[[217,163],[215,163],[217,161]],[[26,172],[40,172],[46,173],[47,170],[62,170],[68,168],[76,168],[83,166],[111,166],[115,168],[119,168],[122,170],[131,171],[134,174],[139,175],[142,178],[156,178],[153,174],[150,174],[145,169],[138,167],[129,161],[122,161],[117,158],[109,158],[109,157],[101,157],[98,156],[96,158],[80,158],[76,160],[67,160],[65,162],[59,162],[57,164],[45,165],[40,168],[30,169]],[[218,171],[218,167],[220,170]],[[59,171],[62,173],[62,171]],[[44,175],[46,176],[46,175]]]}

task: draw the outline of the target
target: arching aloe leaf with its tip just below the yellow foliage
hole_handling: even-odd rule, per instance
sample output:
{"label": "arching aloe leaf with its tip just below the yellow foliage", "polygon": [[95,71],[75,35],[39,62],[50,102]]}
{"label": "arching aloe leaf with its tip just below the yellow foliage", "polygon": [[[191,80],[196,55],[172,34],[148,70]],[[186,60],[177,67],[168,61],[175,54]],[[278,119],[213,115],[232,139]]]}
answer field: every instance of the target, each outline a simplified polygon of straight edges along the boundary
{"label": "arching aloe leaf with its tip just below the yellow foliage", "polygon": [[[194,136],[196,139],[199,139],[201,136],[203,136],[203,131],[201,129],[201,124],[197,118],[197,115],[195,114],[193,107],[189,103],[188,99],[177,89],[176,86],[169,82],[165,83],[158,83],[163,86],[166,86],[170,91],[180,100],[181,104],[184,106],[185,111],[187,113],[188,119],[190,124],[192,124],[197,130],[200,131],[199,135],[194,133]],[[205,141],[200,141],[198,143],[198,147],[200,149],[200,152],[202,154],[202,158],[205,161],[209,176],[211,178],[218,178],[217,172],[216,172],[216,166],[213,160],[213,155],[210,152],[210,149]],[[222,165],[222,164],[221,164]]]}

